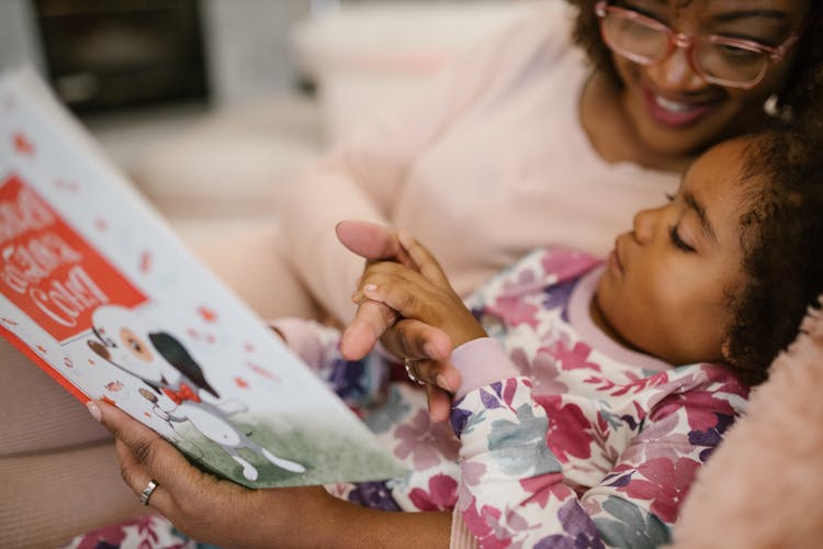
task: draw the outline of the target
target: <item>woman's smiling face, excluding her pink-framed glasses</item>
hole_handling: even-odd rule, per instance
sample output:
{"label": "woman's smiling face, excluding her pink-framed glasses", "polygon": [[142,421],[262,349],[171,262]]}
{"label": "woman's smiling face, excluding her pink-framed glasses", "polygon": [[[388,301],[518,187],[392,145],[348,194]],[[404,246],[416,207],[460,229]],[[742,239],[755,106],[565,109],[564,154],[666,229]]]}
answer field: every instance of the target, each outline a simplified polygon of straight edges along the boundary
{"label": "woman's smiling face, excluding her pink-framed glasses", "polygon": [[[714,34],[776,47],[805,21],[809,0],[628,0],[625,9],[655,19],[687,35]],[[621,102],[638,135],[658,154],[683,155],[759,128],[763,103],[780,92],[797,48],[770,64],[753,89],[707,82],[690,66],[686,48],[674,48],[657,64],[643,66],[612,53],[623,81]]]}

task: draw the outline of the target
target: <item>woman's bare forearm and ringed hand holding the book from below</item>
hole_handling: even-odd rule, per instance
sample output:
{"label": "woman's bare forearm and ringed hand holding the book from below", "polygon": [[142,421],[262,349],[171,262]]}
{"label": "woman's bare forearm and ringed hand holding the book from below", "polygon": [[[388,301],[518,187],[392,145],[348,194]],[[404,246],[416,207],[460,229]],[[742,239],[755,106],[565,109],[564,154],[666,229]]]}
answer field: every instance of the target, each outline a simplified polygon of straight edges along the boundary
{"label": "woman's bare forearm and ringed hand holding the book from below", "polygon": [[157,433],[100,401],[89,412],[116,439],[123,480],[198,541],[221,547],[448,547],[451,513],[392,513],[320,486],[249,490],[192,467]]}

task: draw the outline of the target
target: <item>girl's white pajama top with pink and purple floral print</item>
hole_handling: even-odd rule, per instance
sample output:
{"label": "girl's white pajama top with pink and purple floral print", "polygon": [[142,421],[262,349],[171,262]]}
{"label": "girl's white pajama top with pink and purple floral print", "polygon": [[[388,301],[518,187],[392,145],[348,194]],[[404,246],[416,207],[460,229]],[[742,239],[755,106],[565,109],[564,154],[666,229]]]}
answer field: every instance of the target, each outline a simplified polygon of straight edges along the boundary
{"label": "girl's white pajama top with pink and purple floral print", "polygon": [[379,354],[346,362],[336,330],[278,323],[409,469],[329,490],[385,509],[456,507],[482,547],[668,541],[747,390],[720,366],[617,346],[588,315],[600,272],[591,257],[540,249],[467,300],[491,338],[454,350],[464,386],[450,425],[430,423],[422,391],[388,381]]}

